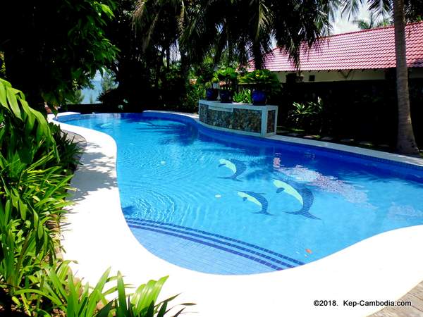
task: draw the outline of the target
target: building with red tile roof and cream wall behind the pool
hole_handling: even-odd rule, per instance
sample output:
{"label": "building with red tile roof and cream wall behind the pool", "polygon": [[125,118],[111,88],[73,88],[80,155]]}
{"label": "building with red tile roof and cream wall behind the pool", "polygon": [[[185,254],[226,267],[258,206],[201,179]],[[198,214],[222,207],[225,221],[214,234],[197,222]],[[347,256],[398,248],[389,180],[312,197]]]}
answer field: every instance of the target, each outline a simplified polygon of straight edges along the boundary
{"label": "building with red tile roof and cream wall behind the pool", "polygon": [[[423,78],[423,22],[407,24],[406,42],[410,78]],[[300,51],[300,76],[288,54],[278,48],[264,57],[263,68],[276,72],[281,82],[384,80],[396,68],[394,28],[332,35],[311,49],[304,46]]]}

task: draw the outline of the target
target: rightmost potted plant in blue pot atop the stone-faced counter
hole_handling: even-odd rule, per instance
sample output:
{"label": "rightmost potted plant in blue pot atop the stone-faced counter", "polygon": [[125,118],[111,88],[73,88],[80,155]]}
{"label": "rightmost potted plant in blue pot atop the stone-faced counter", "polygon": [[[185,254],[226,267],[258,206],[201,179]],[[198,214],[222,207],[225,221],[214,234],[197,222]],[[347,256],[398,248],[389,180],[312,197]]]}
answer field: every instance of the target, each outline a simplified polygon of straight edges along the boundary
{"label": "rightmost potted plant in blue pot atop the stone-faced counter", "polygon": [[267,97],[275,94],[281,90],[281,84],[275,73],[267,69],[257,69],[253,72],[245,74],[240,78],[240,84],[251,85],[252,90],[252,104],[264,105]]}

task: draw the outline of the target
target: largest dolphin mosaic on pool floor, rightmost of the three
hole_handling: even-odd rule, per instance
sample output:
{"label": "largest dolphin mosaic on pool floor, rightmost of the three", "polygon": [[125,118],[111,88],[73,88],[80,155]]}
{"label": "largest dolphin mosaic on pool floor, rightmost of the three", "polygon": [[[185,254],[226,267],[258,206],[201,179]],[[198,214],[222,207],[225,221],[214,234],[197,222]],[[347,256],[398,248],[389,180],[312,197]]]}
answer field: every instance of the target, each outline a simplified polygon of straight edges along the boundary
{"label": "largest dolphin mosaic on pool floor, rightmost of the three", "polygon": [[286,194],[289,194],[300,201],[300,204],[302,205],[302,208],[299,211],[285,211],[286,213],[301,215],[310,219],[320,219],[309,213],[309,209],[314,201],[314,196],[310,189],[292,180],[274,180],[274,185],[277,188],[277,193],[286,192]]}

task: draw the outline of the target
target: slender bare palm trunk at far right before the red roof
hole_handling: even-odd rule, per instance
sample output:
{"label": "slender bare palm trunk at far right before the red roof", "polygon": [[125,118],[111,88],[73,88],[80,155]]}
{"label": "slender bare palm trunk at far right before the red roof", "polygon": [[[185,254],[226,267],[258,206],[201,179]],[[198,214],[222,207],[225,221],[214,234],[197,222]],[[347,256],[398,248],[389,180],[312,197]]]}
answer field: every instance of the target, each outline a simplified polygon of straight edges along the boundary
{"label": "slender bare palm trunk at far right before the red roof", "polygon": [[405,51],[404,0],[393,1],[393,23],[395,27],[396,82],[398,99],[397,151],[401,154],[418,154],[419,149],[412,131],[410,96],[408,92],[408,70]]}

